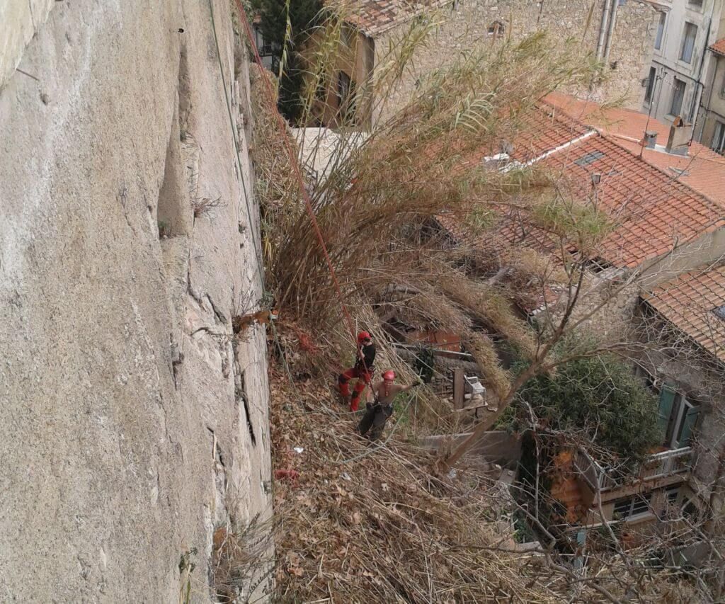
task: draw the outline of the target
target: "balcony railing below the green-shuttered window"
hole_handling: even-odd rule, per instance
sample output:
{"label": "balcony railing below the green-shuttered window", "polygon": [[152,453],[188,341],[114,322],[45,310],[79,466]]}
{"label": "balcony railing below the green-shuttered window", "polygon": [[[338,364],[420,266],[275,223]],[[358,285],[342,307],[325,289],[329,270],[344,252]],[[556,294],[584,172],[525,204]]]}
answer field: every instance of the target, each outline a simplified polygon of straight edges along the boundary
{"label": "balcony railing below the green-shuttered window", "polygon": [[[649,455],[642,462],[639,472],[629,479],[650,481],[689,471],[692,449],[682,447]],[[584,449],[576,450],[574,468],[595,493],[603,493],[624,486],[626,477],[614,468],[597,463]]]}

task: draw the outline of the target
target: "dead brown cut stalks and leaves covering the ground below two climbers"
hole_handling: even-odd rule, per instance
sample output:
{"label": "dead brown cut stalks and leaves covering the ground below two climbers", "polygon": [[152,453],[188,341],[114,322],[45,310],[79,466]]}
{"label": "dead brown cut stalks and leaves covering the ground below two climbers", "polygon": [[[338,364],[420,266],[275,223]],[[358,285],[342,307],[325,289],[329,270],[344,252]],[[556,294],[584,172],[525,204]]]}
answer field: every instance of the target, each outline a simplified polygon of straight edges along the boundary
{"label": "dead brown cut stalks and leaves covering the ground below two climbers", "polygon": [[[326,363],[299,352],[300,331],[280,334],[293,375]],[[613,602],[634,584],[641,602],[692,595],[655,574],[630,575],[619,558],[592,558],[579,576],[546,547],[517,552],[515,502],[475,460],[432,474],[435,456],[402,438],[402,414],[370,444],[314,376],[292,383],[276,365],[271,391],[273,463],[297,473],[275,487],[276,601]]]}

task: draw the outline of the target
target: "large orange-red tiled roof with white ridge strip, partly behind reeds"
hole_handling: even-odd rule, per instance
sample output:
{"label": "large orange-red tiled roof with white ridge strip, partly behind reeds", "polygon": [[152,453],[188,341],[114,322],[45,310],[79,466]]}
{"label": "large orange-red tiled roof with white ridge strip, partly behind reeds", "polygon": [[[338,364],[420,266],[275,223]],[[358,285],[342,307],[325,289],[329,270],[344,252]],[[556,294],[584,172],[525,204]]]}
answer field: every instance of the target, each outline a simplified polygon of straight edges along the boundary
{"label": "large orange-red tiled roof with white ridge strip, partly behind reeds", "polygon": [[[722,207],[676,180],[674,175],[639,158],[619,138],[589,131],[548,104],[542,104],[534,113],[538,115],[529,118],[531,124],[521,133],[524,144],[515,141],[513,157],[518,161],[536,160],[560,174],[560,189],[571,199],[596,202],[607,213],[616,226],[600,242],[599,260],[616,267],[634,268],[660,257],[677,244],[725,227]],[[534,134],[529,129],[532,124]],[[480,160],[481,157],[475,157],[466,164]],[[596,199],[594,174],[600,175]],[[444,226],[455,234],[449,225]],[[516,210],[507,210],[496,233],[512,244],[526,245],[539,252],[558,252],[556,241]]]}

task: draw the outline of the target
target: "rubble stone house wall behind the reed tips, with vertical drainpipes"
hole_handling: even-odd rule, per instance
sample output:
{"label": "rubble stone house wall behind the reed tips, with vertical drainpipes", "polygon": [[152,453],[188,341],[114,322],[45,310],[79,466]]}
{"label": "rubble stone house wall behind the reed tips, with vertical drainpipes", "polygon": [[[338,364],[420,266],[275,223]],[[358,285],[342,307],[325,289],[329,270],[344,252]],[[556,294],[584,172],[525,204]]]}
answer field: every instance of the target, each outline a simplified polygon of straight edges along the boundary
{"label": "rubble stone house wall behind the reed tips, with vertical drainpipes", "polygon": [[[606,0],[610,1],[610,0]],[[436,16],[441,25],[423,48],[415,51],[413,73],[391,97],[383,114],[399,107],[415,88],[418,75],[452,62],[482,44],[494,44],[489,26],[499,21],[503,36],[521,38],[537,30],[547,30],[554,39],[581,40],[584,52],[596,53],[604,0],[457,0]],[[658,13],[645,1],[629,0],[618,7],[616,27],[605,73],[605,85],[593,91],[595,100],[625,99],[626,105],[639,109],[645,89],[641,80],[647,76],[653,54]],[[390,45],[395,46],[402,31],[390,30],[376,38],[376,65]],[[378,117],[378,116],[376,116]]]}

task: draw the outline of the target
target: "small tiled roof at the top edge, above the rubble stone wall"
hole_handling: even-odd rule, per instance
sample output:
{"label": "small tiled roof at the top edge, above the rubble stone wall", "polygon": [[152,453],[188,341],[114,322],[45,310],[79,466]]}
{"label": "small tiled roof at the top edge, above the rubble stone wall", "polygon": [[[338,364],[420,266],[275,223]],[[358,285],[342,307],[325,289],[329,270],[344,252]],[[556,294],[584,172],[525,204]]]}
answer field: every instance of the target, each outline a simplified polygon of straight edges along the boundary
{"label": "small tiled roof at the top edge, above the rubble stone wall", "polygon": [[[452,0],[341,0],[347,22],[375,38],[426,10],[439,9]],[[334,0],[328,1],[334,4]]]}

